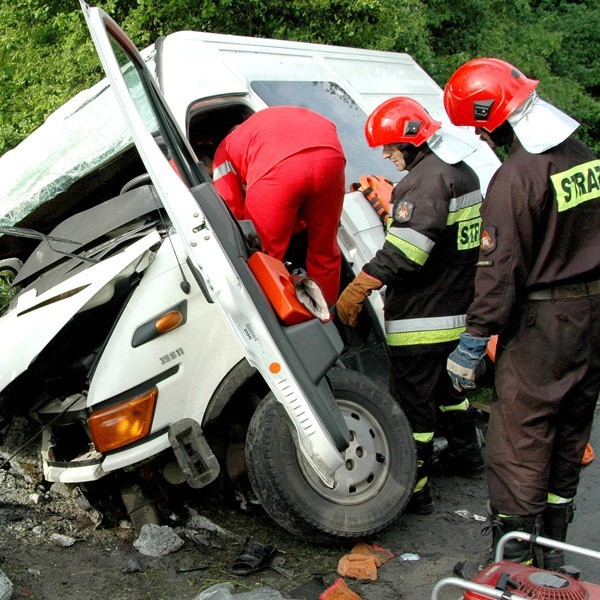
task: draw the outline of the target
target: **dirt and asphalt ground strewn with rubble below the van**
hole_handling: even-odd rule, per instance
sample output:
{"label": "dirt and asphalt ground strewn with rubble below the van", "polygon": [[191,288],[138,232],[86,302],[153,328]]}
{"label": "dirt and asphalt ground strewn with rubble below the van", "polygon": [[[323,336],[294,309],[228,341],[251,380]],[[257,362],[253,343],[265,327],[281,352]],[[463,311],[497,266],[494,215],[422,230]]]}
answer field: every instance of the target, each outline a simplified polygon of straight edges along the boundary
{"label": "dirt and asphalt ground strewn with rubble below the van", "polygon": [[[594,428],[592,438],[597,449],[598,429]],[[5,448],[0,450],[6,456]],[[0,471],[0,568],[14,585],[12,598],[192,600],[212,585],[231,582],[234,594],[267,586],[284,598],[316,600],[316,594],[303,596],[293,591],[312,578],[322,578],[325,587],[331,585],[339,577],[339,559],[351,547],[304,543],[281,530],[260,508],[253,514],[240,512],[221,490],[189,490],[181,506],[192,508],[192,513],[197,511],[207,521],[198,526],[197,520],[189,520],[189,511],[172,513],[162,524],[172,527],[185,544],[167,556],[145,556],[134,547],[138,533],[126,518],[96,527],[89,513],[72,498],[65,498],[60,487],[43,484],[38,467],[30,456]],[[402,515],[387,531],[366,540],[389,549],[394,558],[378,569],[375,582],[346,578],[364,600],[428,600],[435,583],[451,576],[458,560],[476,558],[487,548],[489,538],[482,537],[483,523],[477,520],[485,514],[484,478],[436,474],[433,482],[436,508],[432,515]],[[583,497],[570,532],[571,543],[600,547],[599,483],[596,459],[583,473]],[[118,516],[116,506],[109,503],[107,507],[107,512]],[[214,525],[222,531],[210,531]],[[75,542],[65,547],[55,534]],[[247,537],[276,546],[283,570],[232,575],[231,565]],[[588,566],[588,577],[582,579],[596,581],[598,565]],[[442,594],[453,600],[459,596],[456,588]]]}

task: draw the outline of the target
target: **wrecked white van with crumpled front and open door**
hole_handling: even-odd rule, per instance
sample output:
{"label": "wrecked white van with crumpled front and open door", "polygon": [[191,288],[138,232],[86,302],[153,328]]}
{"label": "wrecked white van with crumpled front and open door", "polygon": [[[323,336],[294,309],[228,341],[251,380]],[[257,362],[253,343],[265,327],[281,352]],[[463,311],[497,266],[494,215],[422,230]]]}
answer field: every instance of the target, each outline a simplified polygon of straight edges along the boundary
{"label": "wrecked white van with crumpled front and open door", "polygon": [[[348,186],[393,179],[364,141],[366,115],[403,94],[443,118],[441,90],[406,55],[274,40],[181,32],[142,59],[83,8],[111,83],[0,158],[0,267],[19,290],[0,318],[2,414],[38,420],[46,479],[92,500],[132,480],[143,492],[149,472],[194,488],[225,473],[312,541],[385,528],[415,457],[386,391],[381,296],[351,335],[310,314],[283,322],[251,267],[251,224],[232,218],[193,148],[298,104],[336,123]],[[495,156],[481,145],[469,162],[485,186]],[[383,242],[360,192],[339,241],[345,285]],[[244,462],[251,488],[231,467]]]}

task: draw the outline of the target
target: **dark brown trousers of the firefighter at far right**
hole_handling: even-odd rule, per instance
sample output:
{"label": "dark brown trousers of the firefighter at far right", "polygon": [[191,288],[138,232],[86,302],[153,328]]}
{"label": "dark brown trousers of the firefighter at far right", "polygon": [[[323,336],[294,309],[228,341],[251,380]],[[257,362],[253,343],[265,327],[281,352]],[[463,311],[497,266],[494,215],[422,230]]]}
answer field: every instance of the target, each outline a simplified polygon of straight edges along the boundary
{"label": "dark brown trousers of the firefighter at far right", "polygon": [[492,508],[537,515],[577,492],[600,392],[600,295],[528,300],[501,335],[486,439]]}

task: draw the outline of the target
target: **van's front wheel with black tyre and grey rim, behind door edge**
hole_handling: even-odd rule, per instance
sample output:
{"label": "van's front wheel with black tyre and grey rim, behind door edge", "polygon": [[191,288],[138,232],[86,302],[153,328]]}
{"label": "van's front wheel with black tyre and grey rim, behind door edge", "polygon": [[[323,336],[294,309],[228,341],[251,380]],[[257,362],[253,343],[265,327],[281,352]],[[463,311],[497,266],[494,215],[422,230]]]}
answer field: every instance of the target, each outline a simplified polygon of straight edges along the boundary
{"label": "van's front wheel with black tyre and grey rim, behind door edge", "polygon": [[412,431],[394,399],[355,371],[333,369],[327,378],[352,438],[334,489],[297,450],[272,393],[246,437],[248,476],[267,514],[290,533],[321,543],[385,529],[402,513],[416,477]]}

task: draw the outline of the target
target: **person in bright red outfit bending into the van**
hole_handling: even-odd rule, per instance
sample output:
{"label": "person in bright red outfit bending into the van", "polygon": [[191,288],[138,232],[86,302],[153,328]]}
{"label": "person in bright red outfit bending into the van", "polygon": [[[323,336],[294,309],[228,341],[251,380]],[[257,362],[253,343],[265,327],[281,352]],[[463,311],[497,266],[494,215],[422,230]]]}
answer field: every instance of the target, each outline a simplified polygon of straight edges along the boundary
{"label": "person in bright red outfit bending into the van", "polygon": [[339,294],[337,230],[346,159],[335,125],[305,108],[260,110],[231,131],[214,156],[213,181],[263,249],[283,260],[292,234],[307,237],[306,272],[333,304]]}

